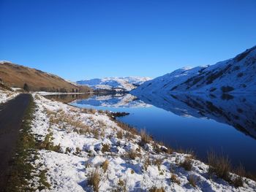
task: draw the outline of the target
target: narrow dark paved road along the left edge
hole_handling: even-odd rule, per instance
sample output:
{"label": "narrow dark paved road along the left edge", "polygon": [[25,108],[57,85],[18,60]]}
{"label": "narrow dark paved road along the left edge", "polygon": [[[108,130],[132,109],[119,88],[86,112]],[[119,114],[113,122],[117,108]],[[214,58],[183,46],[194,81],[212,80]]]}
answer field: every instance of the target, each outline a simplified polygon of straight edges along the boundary
{"label": "narrow dark paved road along the left edge", "polygon": [[18,133],[29,100],[30,95],[22,93],[0,105],[0,189],[7,183],[9,162],[15,152]]}

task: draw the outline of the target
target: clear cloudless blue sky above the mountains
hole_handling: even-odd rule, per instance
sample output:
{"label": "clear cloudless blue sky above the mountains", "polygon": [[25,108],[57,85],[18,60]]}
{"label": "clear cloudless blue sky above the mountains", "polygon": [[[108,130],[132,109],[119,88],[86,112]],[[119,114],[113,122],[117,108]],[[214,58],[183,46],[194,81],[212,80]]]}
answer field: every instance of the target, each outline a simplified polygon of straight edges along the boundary
{"label": "clear cloudless blue sky above the mountains", "polygon": [[73,81],[157,77],[256,45],[255,11],[255,0],[0,0],[0,60]]}

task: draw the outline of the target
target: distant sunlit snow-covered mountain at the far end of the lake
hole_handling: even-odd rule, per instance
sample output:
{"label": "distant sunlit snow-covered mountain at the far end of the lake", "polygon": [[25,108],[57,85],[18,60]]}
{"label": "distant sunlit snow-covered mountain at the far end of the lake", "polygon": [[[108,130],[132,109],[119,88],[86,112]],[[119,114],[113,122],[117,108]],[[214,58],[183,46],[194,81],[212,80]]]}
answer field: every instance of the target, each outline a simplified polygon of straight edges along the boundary
{"label": "distant sunlit snow-covered mountain at the far end of the lake", "polygon": [[143,82],[151,80],[150,77],[105,77],[102,79],[80,80],[78,85],[88,85],[93,89],[105,89],[116,91],[131,91]]}

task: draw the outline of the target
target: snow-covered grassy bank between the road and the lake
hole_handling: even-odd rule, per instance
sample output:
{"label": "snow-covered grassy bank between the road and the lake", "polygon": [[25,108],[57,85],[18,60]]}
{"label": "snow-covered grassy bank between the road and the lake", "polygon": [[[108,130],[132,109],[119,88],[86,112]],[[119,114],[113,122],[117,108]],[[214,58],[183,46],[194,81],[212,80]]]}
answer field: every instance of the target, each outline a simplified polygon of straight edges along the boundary
{"label": "snow-covered grassy bank between the road and the lake", "polygon": [[[256,183],[249,179],[244,178],[244,187],[235,188],[210,177],[208,166],[190,155],[167,153],[153,141],[139,145],[140,136],[105,112],[80,110],[37,94],[34,100],[31,131],[39,141],[48,142],[35,163],[47,170],[51,186],[46,191],[93,191],[92,178],[99,181],[94,185],[99,191],[256,191]],[[190,171],[180,166],[186,158],[192,161]]]}

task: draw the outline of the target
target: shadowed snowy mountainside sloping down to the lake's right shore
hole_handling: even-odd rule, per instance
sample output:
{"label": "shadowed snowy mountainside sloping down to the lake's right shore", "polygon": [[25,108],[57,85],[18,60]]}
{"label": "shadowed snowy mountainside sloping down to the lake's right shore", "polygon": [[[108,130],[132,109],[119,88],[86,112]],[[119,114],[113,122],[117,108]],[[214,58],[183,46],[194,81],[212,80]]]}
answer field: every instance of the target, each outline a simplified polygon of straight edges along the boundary
{"label": "shadowed snowy mountainside sloping down to the lake's right shore", "polygon": [[256,46],[212,66],[177,69],[144,82],[135,95],[148,93],[256,92]]}

